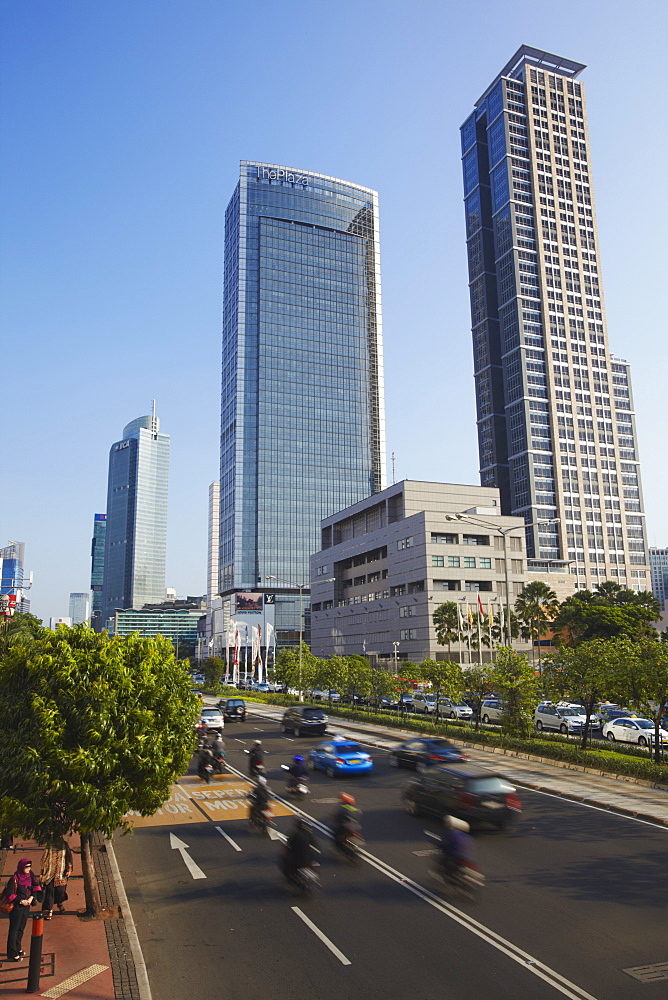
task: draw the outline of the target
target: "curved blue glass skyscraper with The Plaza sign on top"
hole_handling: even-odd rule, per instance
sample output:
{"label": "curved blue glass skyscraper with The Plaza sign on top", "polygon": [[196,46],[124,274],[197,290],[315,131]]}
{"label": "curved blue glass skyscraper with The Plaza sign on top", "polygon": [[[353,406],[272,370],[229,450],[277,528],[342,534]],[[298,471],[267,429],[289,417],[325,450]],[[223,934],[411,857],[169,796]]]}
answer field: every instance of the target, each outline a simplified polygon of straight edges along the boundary
{"label": "curved blue glass skyscraper with The Plaza sign on top", "polygon": [[220,592],[307,584],[320,520],[384,487],[384,451],[377,195],[243,161],[225,219]]}

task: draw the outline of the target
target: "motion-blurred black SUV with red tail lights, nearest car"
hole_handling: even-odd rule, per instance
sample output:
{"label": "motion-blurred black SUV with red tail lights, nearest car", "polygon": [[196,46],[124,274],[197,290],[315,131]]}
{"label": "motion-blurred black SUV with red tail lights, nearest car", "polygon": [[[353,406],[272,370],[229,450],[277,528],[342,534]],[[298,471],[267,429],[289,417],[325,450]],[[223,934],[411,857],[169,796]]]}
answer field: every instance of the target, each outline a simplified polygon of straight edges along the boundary
{"label": "motion-blurred black SUV with red tail lights, nearest car", "polygon": [[416,774],[403,791],[411,816],[459,816],[468,823],[491,823],[500,830],[522,811],[517,789],[477,764],[437,765]]}

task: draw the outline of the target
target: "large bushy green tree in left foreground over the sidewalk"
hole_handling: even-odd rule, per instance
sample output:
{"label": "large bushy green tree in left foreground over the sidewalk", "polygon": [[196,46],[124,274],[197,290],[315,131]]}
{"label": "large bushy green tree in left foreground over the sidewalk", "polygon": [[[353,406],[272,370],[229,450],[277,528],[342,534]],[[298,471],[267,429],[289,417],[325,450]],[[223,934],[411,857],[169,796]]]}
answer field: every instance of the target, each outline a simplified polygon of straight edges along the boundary
{"label": "large bushy green tree in left foreground over the sidewalk", "polygon": [[198,699],[161,636],[44,630],[0,660],[0,828],[81,839],[87,910],[99,914],[91,838],[169,797],[194,748]]}

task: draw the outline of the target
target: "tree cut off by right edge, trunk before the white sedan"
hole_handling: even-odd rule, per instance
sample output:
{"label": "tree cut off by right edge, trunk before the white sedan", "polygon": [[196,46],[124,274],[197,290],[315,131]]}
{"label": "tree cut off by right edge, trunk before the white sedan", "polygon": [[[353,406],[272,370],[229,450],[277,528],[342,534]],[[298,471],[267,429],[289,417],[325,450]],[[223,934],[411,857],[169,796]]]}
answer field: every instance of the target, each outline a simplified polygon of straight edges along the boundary
{"label": "tree cut off by right edge, trunk before the white sedan", "polygon": [[658,638],[625,645],[627,655],[616,661],[615,695],[654,722],[654,759],[658,763],[659,729],[668,705],[668,646]]}

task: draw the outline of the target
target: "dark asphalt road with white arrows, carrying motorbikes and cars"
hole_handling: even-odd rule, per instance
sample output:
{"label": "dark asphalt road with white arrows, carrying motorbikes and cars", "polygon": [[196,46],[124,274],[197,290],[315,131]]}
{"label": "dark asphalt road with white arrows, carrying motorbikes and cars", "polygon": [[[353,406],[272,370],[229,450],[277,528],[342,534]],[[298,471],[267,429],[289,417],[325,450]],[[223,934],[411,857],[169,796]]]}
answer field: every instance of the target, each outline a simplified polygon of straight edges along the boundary
{"label": "dark asphalt road with white arrows, carrying motorbikes and cars", "polygon": [[[249,716],[225,730],[232,768],[245,774],[243,750],[256,738],[282,796],[280,764],[319,738],[288,740],[276,722]],[[202,989],[233,1000],[645,1000],[661,989],[623,970],[668,961],[668,832],[522,790],[523,816],[511,833],[475,835],[487,880],[481,899],[439,900],[424,833],[438,824],[403,811],[410,772],[390,768],[384,751],[372,755],[366,777],[312,776],[302,808],[326,822],[341,790],[354,791],[368,852],[351,867],[320,836],[322,890],[314,899],[284,885],[280,843],[250,831],[233,809],[226,819],[222,808],[209,818],[197,807],[183,825],[175,813],[117,838],[154,1000],[190,1000]],[[192,780],[184,781],[190,793]],[[224,786],[219,779],[209,794]],[[287,832],[292,821],[276,822]],[[188,850],[171,848],[170,833]],[[206,878],[193,878],[193,863]]]}

